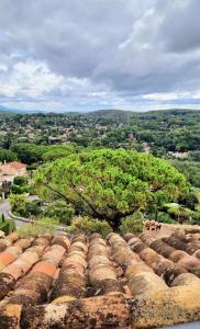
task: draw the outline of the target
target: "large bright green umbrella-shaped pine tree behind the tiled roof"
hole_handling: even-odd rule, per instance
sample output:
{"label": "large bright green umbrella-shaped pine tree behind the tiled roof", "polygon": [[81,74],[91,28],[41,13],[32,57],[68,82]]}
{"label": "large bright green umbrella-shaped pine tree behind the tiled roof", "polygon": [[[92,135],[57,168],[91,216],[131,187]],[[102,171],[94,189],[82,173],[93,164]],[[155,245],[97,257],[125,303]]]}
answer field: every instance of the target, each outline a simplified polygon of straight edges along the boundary
{"label": "large bright green umbrella-shaped pine tree behind the tiled roof", "polygon": [[124,149],[91,150],[46,163],[37,171],[36,184],[45,200],[65,200],[112,227],[187,190],[184,175],[166,160]]}

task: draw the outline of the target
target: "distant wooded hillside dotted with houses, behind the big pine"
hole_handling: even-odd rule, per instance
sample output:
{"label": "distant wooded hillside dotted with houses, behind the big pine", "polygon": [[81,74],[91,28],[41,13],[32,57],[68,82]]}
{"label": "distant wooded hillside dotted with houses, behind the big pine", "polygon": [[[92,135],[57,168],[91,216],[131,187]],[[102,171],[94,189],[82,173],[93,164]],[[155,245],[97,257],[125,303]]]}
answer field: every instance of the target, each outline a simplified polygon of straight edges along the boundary
{"label": "distant wooded hillside dotted with houses, behind the big pine", "polygon": [[[46,160],[65,155],[65,147],[60,146],[66,144],[79,149],[124,148],[169,159],[192,185],[200,186],[200,111],[1,113],[0,125],[0,147],[11,149],[19,160],[29,164],[44,160],[43,146],[51,146]],[[3,156],[15,159],[13,154],[2,150],[0,155],[1,160]]]}

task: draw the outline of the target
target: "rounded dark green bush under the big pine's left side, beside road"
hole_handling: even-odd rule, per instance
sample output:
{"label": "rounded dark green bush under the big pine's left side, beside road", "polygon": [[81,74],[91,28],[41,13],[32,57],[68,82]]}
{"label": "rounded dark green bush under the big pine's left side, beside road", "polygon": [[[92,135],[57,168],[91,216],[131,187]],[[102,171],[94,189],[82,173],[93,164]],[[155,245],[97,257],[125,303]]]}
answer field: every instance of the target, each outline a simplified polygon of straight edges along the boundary
{"label": "rounded dark green bush under the big pine's left side, beside road", "polygon": [[70,225],[73,216],[75,214],[71,205],[66,204],[65,202],[57,202],[49,204],[46,209],[43,212],[43,215],[49,218],[56,218],[59,223],[65,225]]}

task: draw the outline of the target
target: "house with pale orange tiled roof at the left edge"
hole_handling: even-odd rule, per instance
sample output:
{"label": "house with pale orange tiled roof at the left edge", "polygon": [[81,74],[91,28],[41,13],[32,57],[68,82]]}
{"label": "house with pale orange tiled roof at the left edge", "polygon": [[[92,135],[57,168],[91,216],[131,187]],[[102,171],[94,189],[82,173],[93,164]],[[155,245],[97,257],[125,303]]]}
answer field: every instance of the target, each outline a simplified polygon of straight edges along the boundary
{"label": "house with pale orange tiled roof at the left edge", "polygon": [[2,182],[12,182],[16,175],[26,175],[26,164],[12,161],[0,166],[0,184]]}

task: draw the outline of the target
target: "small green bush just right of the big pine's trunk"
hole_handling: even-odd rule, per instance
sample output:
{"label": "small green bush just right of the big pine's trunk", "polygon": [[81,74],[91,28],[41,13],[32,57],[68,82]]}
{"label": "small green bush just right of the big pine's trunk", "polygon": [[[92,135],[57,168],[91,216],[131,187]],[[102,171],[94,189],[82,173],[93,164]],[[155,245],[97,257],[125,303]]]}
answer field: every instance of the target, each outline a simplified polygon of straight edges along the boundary
{"label": "small green bush just right of the big pine's trunk", "polygon": [[144,216],[142,213],[137,212],[133,216],[129,216],[123,219],[122,224],[120,225],[120,232],[122,235],[126,232],[132,234],[140,234],[143,230],[143,220]]}

